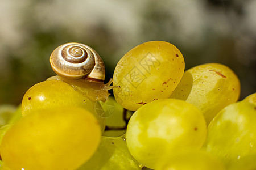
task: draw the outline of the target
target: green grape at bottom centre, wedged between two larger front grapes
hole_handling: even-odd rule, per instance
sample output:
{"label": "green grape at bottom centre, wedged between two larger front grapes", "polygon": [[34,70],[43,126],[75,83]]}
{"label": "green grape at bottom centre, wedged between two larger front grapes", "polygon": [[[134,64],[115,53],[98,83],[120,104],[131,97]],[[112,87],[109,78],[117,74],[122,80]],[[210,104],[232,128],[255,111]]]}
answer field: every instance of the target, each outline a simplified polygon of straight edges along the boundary
{"label": "green grape at bottom centre, wedged between two larger front grapes", "polygon": [[102,137],[96,153],[77,170],[140,170],[139,165],[131,156],[123,136]]}

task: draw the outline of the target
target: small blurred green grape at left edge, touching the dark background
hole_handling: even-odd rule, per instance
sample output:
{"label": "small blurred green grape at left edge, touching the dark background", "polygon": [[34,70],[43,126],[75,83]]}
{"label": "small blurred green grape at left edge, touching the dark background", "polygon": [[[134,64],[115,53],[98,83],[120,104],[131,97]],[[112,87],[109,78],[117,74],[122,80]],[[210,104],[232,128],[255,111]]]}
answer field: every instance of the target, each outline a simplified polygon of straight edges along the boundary
{"label": "small blurred green grape at left edge, touching the dark background", "polygon": [[14,105],[0,105],[0,126],[7,124],[15,110]]}

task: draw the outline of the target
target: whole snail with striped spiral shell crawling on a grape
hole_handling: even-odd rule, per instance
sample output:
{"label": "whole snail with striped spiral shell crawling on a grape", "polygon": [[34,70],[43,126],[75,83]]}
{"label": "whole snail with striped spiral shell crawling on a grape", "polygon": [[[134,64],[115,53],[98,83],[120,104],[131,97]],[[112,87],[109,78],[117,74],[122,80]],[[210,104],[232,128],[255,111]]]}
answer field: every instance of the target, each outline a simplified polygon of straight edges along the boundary
{"label": "whole snail with striped spiral shell crawling on a grape", "polygon": [[58,76],[47,80],[62,80],[92,101],[105,102],[112,79],[104,84],[105,66],[101,57],[90,46],[81,43],[67,43],[53,50],[50,56],[52,70]]}

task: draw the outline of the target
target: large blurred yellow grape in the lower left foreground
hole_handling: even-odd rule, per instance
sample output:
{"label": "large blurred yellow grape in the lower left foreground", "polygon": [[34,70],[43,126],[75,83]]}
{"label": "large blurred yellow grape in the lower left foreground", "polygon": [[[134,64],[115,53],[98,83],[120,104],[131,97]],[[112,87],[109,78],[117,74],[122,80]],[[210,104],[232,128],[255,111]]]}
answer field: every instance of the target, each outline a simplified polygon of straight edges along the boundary
{"label": "large blurred yellow grape in the lower left foreground", "polygon": [[10,169],[76,169],[96,152],[101,128],[77,107],[43,109],[13,124],[3,136],[1,157]]}

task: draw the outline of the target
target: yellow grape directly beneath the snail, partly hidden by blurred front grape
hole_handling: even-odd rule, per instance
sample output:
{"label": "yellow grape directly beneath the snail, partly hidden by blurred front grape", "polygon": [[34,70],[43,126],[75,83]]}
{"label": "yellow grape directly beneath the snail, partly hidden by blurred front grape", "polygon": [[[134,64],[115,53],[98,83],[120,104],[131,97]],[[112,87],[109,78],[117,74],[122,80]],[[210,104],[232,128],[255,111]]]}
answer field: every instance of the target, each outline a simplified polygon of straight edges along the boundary
{"label": "yellow grape directly beneath the snail, partly hidden by blurred front grape", "polygon": [[48,80],[32,86],[22,99],[22,116],[45,108],[59,108],[64,106],[83,107],[92,112],[105,128],[105,118],[101,117],[100,104],[81,95],[69,84],[61,80]]}

